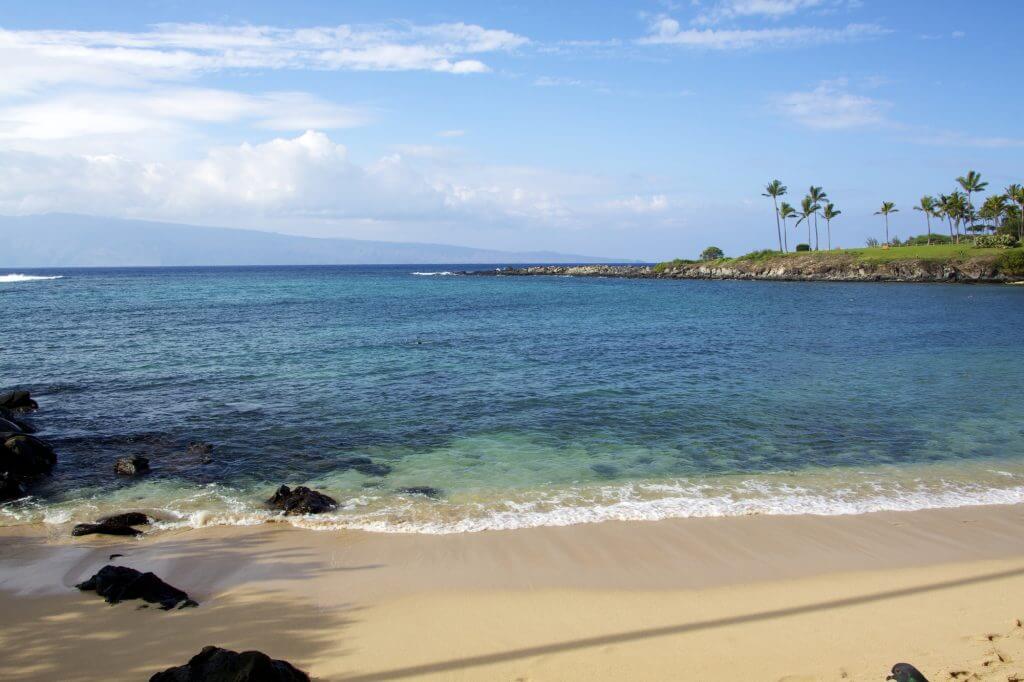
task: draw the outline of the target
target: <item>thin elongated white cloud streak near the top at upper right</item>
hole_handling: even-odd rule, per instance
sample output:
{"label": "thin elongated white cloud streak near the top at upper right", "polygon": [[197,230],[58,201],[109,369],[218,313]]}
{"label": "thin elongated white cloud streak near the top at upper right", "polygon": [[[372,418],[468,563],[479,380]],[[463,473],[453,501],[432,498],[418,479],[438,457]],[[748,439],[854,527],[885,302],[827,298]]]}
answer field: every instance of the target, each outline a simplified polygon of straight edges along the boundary
{"label": "thin elongated white cloud streak near the top at upper right", "polygon": [[679,22],[658,17],[641,45],[679,45],[712,50],[742,50],[767,47],[804,47],[848,43],[878,38],[889,33],[874,24],[849,24],[841,29],[795,27],[769,29],[683,29]]}

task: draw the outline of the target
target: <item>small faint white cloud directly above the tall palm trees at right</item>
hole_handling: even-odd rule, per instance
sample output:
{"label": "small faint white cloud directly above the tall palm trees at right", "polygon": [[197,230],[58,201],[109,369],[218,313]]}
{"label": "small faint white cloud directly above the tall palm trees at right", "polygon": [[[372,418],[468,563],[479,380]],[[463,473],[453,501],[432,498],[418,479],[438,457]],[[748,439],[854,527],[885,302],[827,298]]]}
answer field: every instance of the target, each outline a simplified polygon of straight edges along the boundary
{"label": "small faint white cloud directly above the tall palm trees at right", "polygon": [[824,81],[810,91],[790,92],[774,99],[783,116],[818,130],[878,126],[886,122],[889,102],[846,90],[846,81]]}

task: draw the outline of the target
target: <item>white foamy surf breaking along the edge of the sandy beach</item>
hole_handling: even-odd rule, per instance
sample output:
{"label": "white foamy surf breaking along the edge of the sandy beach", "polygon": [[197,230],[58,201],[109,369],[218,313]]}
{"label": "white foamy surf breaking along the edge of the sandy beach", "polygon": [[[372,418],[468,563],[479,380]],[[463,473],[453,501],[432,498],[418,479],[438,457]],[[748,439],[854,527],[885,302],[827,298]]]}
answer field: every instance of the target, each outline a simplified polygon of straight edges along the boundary
{"label": "white foamy surf breaking along the edge of the sandy beach", "polygon": [[[180,492],[179,492],[180,495]],[[315,530],[450,535],[603,521],[654,521],[749,515],[839,516],[881,511],[914,511],[1024,503],[1024,486],[991,487],[932,480],[885,484],[860,481],[850,487],[803,486],[746,480],[730,485],[680,480],[628,483],[598,488],[565,488],[502,501],[412,500],[381,492],[344,499],[334,513],[282,516],[259,501],[229,487],[211,484],[145,509],[155,529],[211,525],[257,525],[271,521]],[[96,499],[72,508],[5,509],[8,521],[67,524],[90,520],[113,501]],[[116,503],[112,509],[116,509]]]}

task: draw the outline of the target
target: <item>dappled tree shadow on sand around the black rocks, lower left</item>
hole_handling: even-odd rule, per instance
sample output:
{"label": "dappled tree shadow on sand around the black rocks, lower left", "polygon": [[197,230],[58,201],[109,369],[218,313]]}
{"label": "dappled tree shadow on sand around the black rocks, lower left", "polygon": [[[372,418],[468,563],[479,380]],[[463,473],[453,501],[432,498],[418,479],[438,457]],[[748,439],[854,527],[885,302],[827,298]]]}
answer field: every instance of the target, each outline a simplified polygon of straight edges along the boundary
{"label": "dappled tree shadow on sand around the black rocks, lower left", "polygon": [[[99,539],[79,544],[63,567],[62,586],[8,601],[14,608],[0,622],[0,655],[4,679],[139,680],[186,663],[212,644],[238,651],[257,649],[309,670],[326,649],[346,654],[344,632],[360,608],[352,603],[326,605],[276,586],[287,579],[370,570],[367,565],[333,565],[308,549],[271,542],[270,532],[232,535],[224,539],[157,539],[154,542]],[[5,543],[0,560],[49,556],[40,539]],[[52,548],[50,548],[52,549]],[[123,554],[111,560],[111,554]],[[161,611],[127,601],[109,605],[94,593],[74,585],[101,566],[114,563],[153,570],[199,600],[197,608]],[[31,584],[30,574],[4,585]],[[38,565],[38,564],[37,564]],[[17,568],[15,568],[16,570]],[[11,574],[5,566],[5,576]],[[41,574],[41,573],[40,573]],[[8,581],[3,581],[8,583]],[[197,589],[197,585],[202,588]],[[245,590],[232,590],[244,585]],[[38,590],[38,589],[37,589]],[[100,653],[101,652],[101,653]],[[11,672],[12,677],[7,677]]]}

